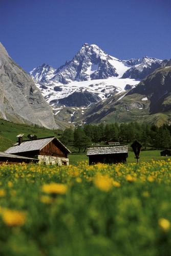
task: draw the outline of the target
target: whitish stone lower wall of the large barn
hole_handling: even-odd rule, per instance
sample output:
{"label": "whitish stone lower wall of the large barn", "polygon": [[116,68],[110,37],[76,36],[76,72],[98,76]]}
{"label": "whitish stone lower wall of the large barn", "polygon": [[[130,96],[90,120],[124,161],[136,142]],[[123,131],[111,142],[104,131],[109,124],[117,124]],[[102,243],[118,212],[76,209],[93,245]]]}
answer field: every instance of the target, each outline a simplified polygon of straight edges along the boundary
{"label": "whitish stone lower wall of the large barn", "polygon": [[69,159],[65,157],[52,157],[52,156],[42,156],[38,155],[38,163],[39,164],[57,164],[61,165],[69,165]]}

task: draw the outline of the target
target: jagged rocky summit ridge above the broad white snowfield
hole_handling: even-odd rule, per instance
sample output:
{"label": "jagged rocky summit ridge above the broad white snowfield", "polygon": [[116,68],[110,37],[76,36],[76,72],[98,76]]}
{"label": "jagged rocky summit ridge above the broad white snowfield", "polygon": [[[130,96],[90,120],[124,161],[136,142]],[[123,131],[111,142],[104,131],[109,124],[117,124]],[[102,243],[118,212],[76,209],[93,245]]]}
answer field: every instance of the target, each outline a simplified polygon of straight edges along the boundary
{"label": "jagged rocky summit ridge above the broad white snowfield", "polygon": [[45,63],[30,74],[36,81],[68,84],[73,81],[88,81],[122,77],[142,79],[161,66],[162,60],[150,57],[119,60],[105,53],[96,45],[84,44],[74,58],[58,69]]}

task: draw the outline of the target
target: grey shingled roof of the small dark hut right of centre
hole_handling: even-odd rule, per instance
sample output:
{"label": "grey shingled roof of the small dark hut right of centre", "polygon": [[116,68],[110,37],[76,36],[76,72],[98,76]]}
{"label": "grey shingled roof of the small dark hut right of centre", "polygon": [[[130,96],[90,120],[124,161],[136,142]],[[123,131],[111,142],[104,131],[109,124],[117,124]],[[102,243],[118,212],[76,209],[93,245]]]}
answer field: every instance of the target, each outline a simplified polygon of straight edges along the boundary
{"label": "grey shingled roof of the small dark hut right of centre", "polygon": [[87,156],[128,153],[128,146],[99,146],[89,147]]}

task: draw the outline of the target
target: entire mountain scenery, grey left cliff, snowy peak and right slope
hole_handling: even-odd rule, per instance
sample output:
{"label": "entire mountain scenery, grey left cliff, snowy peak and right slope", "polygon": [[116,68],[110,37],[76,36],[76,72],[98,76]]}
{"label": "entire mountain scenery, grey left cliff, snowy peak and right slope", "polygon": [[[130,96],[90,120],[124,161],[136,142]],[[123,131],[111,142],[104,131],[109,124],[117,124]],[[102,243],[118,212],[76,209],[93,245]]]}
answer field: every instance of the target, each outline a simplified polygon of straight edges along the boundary
{"label": "entire mountain scenery, grey left cliff, snowy peak and right slope", "polygon": [[75,124],[170,123],[171,61],[117,59],[84,44],[74,58],[30,75],[0,43],[0,118],[65,129]]}

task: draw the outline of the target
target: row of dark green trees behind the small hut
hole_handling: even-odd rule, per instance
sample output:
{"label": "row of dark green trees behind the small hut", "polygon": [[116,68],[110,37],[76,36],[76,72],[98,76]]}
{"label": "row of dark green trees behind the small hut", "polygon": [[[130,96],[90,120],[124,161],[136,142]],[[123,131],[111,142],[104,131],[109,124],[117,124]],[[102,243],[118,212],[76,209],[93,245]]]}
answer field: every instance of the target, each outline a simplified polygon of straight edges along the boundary
{"label": "row of dark green trees behind the small hut", "polygon": [[171,147],[171,126],[164,124],[160,127],[146,123],[112,123],[85,124],[75,129],[67,128],[60,140],[66,145],[73,145],[78,151],[86,151],[94,143],[106,142],[110,139],[123,143],[138,140],[145,148],[147,145],[155,148]]}

